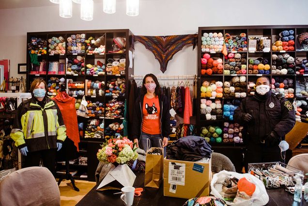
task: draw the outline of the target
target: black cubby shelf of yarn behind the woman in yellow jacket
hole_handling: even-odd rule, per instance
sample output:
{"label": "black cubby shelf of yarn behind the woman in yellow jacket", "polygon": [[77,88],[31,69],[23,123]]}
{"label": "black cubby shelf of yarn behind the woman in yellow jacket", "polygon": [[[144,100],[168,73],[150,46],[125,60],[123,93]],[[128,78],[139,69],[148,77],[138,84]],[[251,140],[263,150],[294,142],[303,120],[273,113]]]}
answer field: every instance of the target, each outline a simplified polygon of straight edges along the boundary
{"label": "black cubby shelf of yarn behind the woman in yellow jacket", "polygon": [[[64,79],[63,85],[65,85],[64,89],[67,94],[76,98],[76,109],[79,108],[83,95],[88,102],[87,108],[90,112],[85,117],[77,116],[80,159],[72,165],[72,169],[78,170],[78,173],[74,175],[77,179],[80,175],[87,173],[88,176],[82,179],[95,181],[94,173],[98,164],[96,153],[105,138],[107,127],[112,126],[112,129],[110,127],[112,131],[116,131],[116,133],[120,131],[120,134],[123,134],[121,127],[124,119],[124,101],[128,96],[126,89],[128,88],[128,79],[134,73],[133,68],[128,69],[129,50],[132,50],[130,46],[131,35],[129,30],[27,33],[27,79],[30,79],[27,81],[27,91],[30,90],[31,82],[35,78],[45,79],[47,84],[50,83],[51,90],[55,90],[52,86],[57,87],[57,84],[62,82],[60,79]],[[44,40],[41,49],[31,47],[31,42],[37,39]],[[51,42],[54,47],[49,48]],[[60,43],[61,45],[59,45]],[[37,54],[34,57],[29,54],[32,48],[32,53]],[[56,48],[58,52],[55,52]],[[65,52],[62,51],[64,48]],[[32,61],[33,58],[34,61],[37,59],[38,65],[33,65],[31,58]],[[109,62],[111,65],[108,64]],[[131,64],[133,65],[133,63]],[[108,74],[107,65],[108,68],[112,67],[111,73]],[[63,71],[62,68],[64,68]],[[52,96],[51,92],[54,91],[48,92]],[[106,95],[107,93],[108,95]],[[110,104],[119,104],[119,102],[121,102],[121,107],[109,112]],[[110,132],[107,134],[109,136]],[[95,151],[92,151],[93,148]],[[81,165],[80,161],[87,162],[87,164]]]}

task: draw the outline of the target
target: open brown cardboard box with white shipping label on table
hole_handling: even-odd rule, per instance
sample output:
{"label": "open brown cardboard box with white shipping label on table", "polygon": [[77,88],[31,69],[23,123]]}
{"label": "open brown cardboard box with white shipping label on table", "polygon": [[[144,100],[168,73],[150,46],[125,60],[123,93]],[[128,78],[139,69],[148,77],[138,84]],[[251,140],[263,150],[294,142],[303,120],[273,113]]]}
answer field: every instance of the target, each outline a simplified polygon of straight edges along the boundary
{"label": "open brown cardboard box with white shipping label on table", "polygon": [[164,196],[190,199],[208,196],[211,162],[200,163],[164,158]]}

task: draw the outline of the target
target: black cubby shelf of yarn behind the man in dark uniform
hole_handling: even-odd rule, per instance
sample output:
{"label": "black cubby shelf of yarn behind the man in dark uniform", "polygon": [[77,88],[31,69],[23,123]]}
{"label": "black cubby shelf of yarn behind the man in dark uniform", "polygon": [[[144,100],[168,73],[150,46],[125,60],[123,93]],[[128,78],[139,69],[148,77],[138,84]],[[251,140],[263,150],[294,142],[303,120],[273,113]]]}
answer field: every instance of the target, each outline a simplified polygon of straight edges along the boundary
{"label": "black cubby shelf of yarn behind the man in dark uniform", "polygon": [[[207,45],[206,37],[210,32],[212,33],[222,32],[224,37],[224,43],[226,43],[226,46],[228,48],[228,54],[226,57],[224,57],[220,52],[211,53],[210,51],[205,51]],[[223,141],[222,143],[220,142],[220,140],[218,141],[219,143],[214,142],[213,140],[210,141],[210,144],[213,146],[212,148],[214,149],[214,151],[220,151],[220,152],[223,151],[222,152],[223,154],[228,154],[232,152],[234,149],[238,149],[238,151],[241,151],[240,152],[241,154],[238,153],[237,160],[234,161],[234,164],[240,165],[242,159],[242,152],[244,151],[242,146],[243,140],[241,140],[241,138],[243,137],[242,134],[238,135],[241,136],[240,142],[238,142],[238,138],[236,138],[236,142],[234,142],[234,134],[233,134],[233,140],[230,141],[231,138],[229,138],[229,126],[231,125],[231,127],[234,127],[234,125],[236,124],[232,120],[231,115],[234,107],[237,107],[245,96],[254,94],[256,87],[255,83],[259,77],[265,76],[269,78],[271,81],[272,91],[277,94],[280,93],[280,95],[287,97],[291,102],[293,102],[294,99],[306,100],[308,98],[307,95],[308,79],[306,77],[308,76],[308,61],[307,61],[308,48],[304,50],[301,47],[302,45],[298,43],[298,35],[300,34],[302,37],[301,41],[303,41],[304,43],[306,43],[305,41],[307,41],[308,43],[308,26],[267,25],[267,26],[200,27],[198,33],[199,33],[198,40],[200,42],[198,49],[198,77],[200,79],[200,81],[198,81],[198,88],[201,89],[204,80],[208,82],[217,81],[217,76],[218,76],[219,78],[221,78],[220,81],[224,83],[223,85],[224,95],[223,98],[221,98],[223,119],[207,120],[205,116],[207,113],[205,110],[207,108],[206,105],[207,100],[214,101],[215,99],[211,99],[211,97],[206,97],[201,92],[198,92],[197,111],[200,111],[200,114],[197,113],[197,121],[196,121],[197,135],[202,134],[201,132],[202,127],[208,127],[210,125],[220,126],[223,129],[223,134],[222,134]],[[245,38],[241,39],[244,36],[246,37],[246,39]],[[282,37],[288,37],[288,39]],[[238,43],[240,43],[237,42],[239,40],[241,41],[241,45],[243,43],[244,44],[246,43],[247,46],[244,47],[241,46],[241,48],[237,46]],[[247,42],[242,40],[246,40]],[[236,44],[233,45],[233,43]],[[204,56],[204,54],[206,54],[206,56]],[[236,60],[235,54],[241,54],[241,57],[237,55],[237,60]],[[245,60],[242,61],[243,54],[244,57],[246,55],[246,61]],[[221,57],[224,60],[223,74],[218,75],[214,74],[213,72],[211,74],[211,72],[206,73],[206,71],[202,70],[206,69],[206,64],[209,59],[207,55],[210,55],[210,58]],[[289,59],[289,57],[291,58]],[[205,61],[202,60],[203,58],[208,58],[208,59],[207,61]],[[241,60],[241,65],[239,64],[240,62],[239,59]],[[279,60],[277,61],[277,59]],[[236,73],[237,71],[239,71],[239,69],[240,70],[242,69],[242,65],[244,65],[243,66],[244,68],[246,67],[246,73],[245,72],[244,74],[243,73],[240,74],[240,72]],[[241,68],[239,66],[241,66]],[[237,71],[234,71],[235,67],[237,67],[236,68]],[[233,72],[231,74],[232,69]],[[285,70],[283,70],[283,73],[281,72],[279,73],[276,71],[277,69],[279,70],[285,69]],[[235,80],[235,78],[236,79],[242,78],[242,79],[237,82],[233,82],[232,79]],[[225,82],[229,83],[225,84]],[[233,91],[233,88],[231,87],[234,87],[234,95],[233,94],[230,95],[231,92]],[[235,91],[235,88],[237,88],[237,91]],[[228,90],[226,91],[227,93],[225,93],[225,89]],[[235,95],[235,92],[237,92],[237,95]],[[240,95],[238,95],[239,92]],[[234,107],[231,105],[233,105]],[[210,116],[208,115],[208,119],[209,118]],[[300,119],[300,117],[298,117],[298,119]],[[224,123],[226,122],[228,122],[229,124],[228,127],[224,126]],[[238,125],[236,124],[236,126]],[[226,130],[226,128],[228,128],[227,133],[226,131],[224,131]],[[241,129],[243,128],[241,127]],[[228,134],[228,138],[227,135],[224,134]],[[204,134],[202,135],[205,136]]]}

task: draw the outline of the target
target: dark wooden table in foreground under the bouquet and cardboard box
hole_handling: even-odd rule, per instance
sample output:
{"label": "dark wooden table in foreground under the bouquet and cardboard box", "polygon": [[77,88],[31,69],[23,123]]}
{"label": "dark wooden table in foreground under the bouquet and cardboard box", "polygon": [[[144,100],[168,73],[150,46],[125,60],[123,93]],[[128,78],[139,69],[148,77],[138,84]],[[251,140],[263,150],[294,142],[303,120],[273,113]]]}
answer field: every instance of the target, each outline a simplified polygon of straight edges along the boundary
{"label": "dark wooden table in foreground under the bouquet and cardboard box", "polygon": [[[187,199],[164,196],[163,183],[159,189],[144,187],[144,173],[136,173],[135,188],[143,188],[140,197],[134,198],[133,206],[183,206]],[[113,194],[116,190],[97,191],[99,184],[92,188],[84,196],[77,206],[123,206],[121,194]],[[308,206],[308,202],[302,199],[302,203],[293,203],[293,195],[283,189],[267,190],[269,202],[266,206]]]}

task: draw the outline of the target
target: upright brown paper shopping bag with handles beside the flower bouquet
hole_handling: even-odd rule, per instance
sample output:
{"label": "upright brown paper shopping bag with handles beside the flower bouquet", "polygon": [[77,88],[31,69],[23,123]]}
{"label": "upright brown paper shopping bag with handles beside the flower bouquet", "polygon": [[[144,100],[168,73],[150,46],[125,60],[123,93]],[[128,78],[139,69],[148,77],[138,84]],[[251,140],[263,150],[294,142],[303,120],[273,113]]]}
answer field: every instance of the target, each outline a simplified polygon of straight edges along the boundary
{"label": "upright brown paper shopping bag with handles beside the flower bouquet", "polygon": [[[149,140],[149,139],[148,139]],[[150,144],[147,142],[148,146]],[[160,141],[161,147],[147,148],[146,160],[145,160],[145,174],[144,174],[144,186],[150,188],[159,188],[160,183],[163,180],[164,170],[164,149],[163,143]],[[161,150],[161,155],[151,154],[155,150]],[[149,154],[150,153],[150,154]]]}

